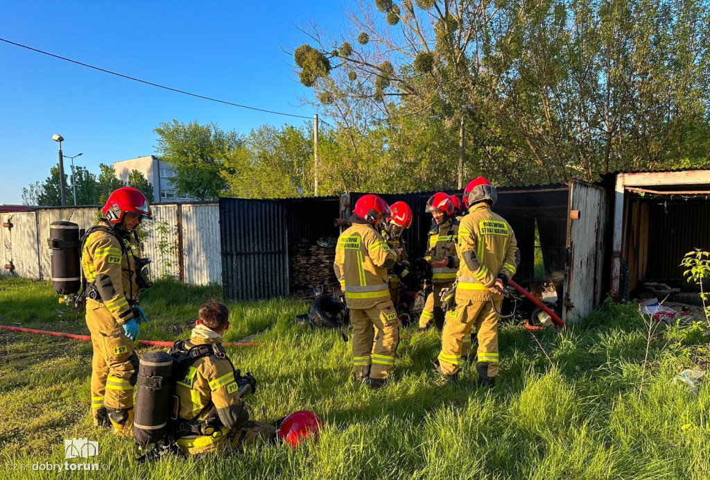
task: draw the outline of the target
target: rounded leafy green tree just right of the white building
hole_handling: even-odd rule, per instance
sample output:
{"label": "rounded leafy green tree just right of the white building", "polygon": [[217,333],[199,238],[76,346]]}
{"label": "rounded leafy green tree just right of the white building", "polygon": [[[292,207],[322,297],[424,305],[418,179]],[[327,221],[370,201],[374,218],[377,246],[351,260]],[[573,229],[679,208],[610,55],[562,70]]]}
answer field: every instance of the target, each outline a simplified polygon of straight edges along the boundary
{"label": "rounded leafy green tree just right of the white building", "polygon": [[173,185],[178,195],[197,200],[214,200],[226,190],[221,173],[225,162],[243,143],[235,131],[223,131],[217,124],[183,124],[175,119],[162,122],[158,153],[175,170]]}

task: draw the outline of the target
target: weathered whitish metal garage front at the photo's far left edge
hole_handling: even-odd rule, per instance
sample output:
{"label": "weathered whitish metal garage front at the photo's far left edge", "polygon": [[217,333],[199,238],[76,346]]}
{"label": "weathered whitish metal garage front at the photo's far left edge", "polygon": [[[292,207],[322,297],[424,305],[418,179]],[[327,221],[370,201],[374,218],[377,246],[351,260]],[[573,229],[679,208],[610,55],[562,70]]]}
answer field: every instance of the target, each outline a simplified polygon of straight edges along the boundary
{"label": "weathered whitish metal garage front at the photo's far left edge", "polygon": [[[1,227],[3,232],[2,269],[4,274],[40,280],[40,251],[37,244],[37,215],[35,212],[14,212],[2,214],[2,222],[10,222],[11,228]],[[46,245],[46,243],[45,243]],[[4,266],[11,263],[13,271],[5,271]]]}

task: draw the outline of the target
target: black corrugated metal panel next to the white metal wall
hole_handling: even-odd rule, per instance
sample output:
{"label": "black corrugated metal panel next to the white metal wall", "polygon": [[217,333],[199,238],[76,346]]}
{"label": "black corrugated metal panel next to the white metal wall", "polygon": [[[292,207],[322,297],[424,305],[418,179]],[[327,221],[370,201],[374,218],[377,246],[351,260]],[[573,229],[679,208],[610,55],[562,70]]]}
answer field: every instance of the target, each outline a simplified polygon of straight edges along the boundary
{"label": "black corrugated metal panel next to the white metal wall", "polygon": [[219,199],[222,287],[230,300],[288,295],[283,200]]}

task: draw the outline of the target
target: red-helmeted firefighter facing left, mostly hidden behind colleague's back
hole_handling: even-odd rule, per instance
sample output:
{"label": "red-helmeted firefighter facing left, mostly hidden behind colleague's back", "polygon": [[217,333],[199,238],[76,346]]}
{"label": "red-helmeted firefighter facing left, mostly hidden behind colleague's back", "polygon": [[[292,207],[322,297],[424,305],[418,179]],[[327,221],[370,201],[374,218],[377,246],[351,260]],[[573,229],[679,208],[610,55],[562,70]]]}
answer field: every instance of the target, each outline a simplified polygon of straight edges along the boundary
{"label": "red-helmeted firefighter facing left, mostly hidden behind colleague's back", "polygon": [[400,310],[400,287],[405,282],[410,288],[419,290],[419,279],[412,272],[412,267],[407,256],[407,249],[402,234],[405,229],[412,226],[414,214],[412,209],[405,202],[394,202],[390,205],[391,217],[386,219],[381,229],[382,238],[391,249],[402,249],[400,261],[387,272],[389,276],[390,297],[395,306],[395,310]]}

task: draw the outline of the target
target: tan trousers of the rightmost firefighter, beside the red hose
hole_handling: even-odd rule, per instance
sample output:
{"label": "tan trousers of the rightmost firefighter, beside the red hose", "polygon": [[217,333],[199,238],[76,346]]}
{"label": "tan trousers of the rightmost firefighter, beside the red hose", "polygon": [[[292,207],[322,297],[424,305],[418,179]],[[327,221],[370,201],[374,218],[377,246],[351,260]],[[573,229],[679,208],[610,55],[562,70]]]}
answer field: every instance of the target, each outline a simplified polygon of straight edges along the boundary
{"label": "tan trousers of the rightmost firefighter, beside the red hose", "polygon": [[[498,310],[503,302],[502,296],[499,297],[494,299]],[[479,376],[493,378],[498,375],[498,314],[493,310],[491,300],[462,300],[455,310],[447,312],[439,354],[444,375],[454,375],[461,370],[464,338],[470,337],[472,330],[479,342],[476,362]]]}

